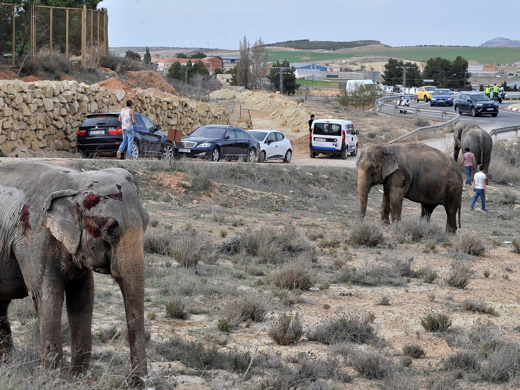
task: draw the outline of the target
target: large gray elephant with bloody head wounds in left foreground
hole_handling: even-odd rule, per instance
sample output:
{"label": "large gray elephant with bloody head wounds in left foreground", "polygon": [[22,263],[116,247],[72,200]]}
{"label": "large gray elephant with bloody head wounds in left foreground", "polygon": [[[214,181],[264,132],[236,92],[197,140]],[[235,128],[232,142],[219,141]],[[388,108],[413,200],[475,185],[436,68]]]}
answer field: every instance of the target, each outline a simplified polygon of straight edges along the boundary
{"label": "large gray elephant with bloody head wounds in left foreground", "polygon": [[148,213],[122,169],[78,172],[43,162],[0,165],[0,358],[12,349],[7,309],[30,296],[40,321],[40,357],[59,367],[67,298],[71,374],[92,350],[93,271],[123,294],[134,378],[146,374],[144,233]]}

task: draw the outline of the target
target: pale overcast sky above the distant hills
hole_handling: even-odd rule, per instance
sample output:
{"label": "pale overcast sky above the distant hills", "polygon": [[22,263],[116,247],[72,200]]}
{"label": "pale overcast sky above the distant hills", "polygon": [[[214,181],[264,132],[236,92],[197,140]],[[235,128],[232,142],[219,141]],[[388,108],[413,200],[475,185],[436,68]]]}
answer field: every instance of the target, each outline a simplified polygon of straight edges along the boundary
{"label": "pale overcast sky above the distant hills", "polygon": [[110,47],[234,49],[244,35],[251,43],[262,36],[266,43],[298,39],[377,40],[391,46],[478,46],[497,36],[520,40],[518,0],[352,3],[352,0],[104,0],[99,6],[108,9]]}

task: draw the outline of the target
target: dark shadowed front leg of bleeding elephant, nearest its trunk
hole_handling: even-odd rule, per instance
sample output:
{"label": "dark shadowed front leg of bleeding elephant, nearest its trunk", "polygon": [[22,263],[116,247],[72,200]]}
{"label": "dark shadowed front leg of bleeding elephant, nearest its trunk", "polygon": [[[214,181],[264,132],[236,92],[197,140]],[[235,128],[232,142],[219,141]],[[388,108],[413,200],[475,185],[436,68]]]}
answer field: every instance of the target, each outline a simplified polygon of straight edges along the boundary
{"label": "dark shadowed front leg of bleeding elephant, nearest its trunk", "polygon": [[94,276],[88,271],[80,279],[65,285],[67,316],[71,337],[71,369],[74,376],[86,371],[92,355],[92,311],[94,309]]}

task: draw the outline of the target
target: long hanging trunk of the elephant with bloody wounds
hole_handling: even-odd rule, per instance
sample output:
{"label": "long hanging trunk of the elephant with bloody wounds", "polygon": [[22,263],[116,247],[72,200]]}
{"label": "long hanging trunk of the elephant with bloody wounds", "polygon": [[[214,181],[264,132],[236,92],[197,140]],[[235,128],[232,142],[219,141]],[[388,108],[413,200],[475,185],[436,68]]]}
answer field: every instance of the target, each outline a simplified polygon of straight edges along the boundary
{"label": "long hanging trunk of the elephant with bloody wounds", "polygon": [[143,238],[142,229],[126,233],[121,238],[111,263],[112,276],[123,294],[134,379],[147,373]]}

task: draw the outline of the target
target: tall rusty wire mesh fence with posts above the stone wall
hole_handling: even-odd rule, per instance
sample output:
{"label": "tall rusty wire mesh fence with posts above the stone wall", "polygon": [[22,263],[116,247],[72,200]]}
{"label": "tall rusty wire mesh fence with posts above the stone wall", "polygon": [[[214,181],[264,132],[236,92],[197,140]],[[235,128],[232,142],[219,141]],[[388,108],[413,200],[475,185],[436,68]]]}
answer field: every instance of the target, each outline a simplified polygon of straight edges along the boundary
{"label": "tall rusty wire mesh fence with posts above the stone wall", "polygon": [[0,66],[61,53],[73,63],[93,65],[108,54],[106,10],[0,3]]}

